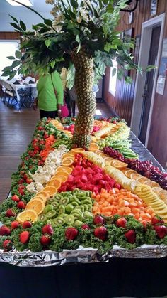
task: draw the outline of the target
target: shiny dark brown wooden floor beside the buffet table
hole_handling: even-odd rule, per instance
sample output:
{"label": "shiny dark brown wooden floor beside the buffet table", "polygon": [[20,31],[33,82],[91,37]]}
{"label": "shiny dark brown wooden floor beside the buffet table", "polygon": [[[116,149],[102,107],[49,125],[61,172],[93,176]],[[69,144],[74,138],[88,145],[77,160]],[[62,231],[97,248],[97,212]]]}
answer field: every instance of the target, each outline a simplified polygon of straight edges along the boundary
{"label": "shiny dark brown wooden floor beside the buffet table", "polygon": [[[99,117],[111,116],[110,110],[103,103],[98,103],[96,112]],[[16,171],[20,156],[30,143],[39,119],[38,111],[24,109],[18,112],[0,101],[0,202],[8,196],[11,174]]]}

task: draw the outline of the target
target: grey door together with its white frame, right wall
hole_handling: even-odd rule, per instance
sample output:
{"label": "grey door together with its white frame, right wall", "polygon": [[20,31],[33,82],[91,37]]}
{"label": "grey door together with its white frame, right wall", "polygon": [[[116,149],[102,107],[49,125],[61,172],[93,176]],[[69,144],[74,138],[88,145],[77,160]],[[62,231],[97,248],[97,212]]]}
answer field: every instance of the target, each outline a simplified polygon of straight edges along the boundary
{"label": "grey door together with its white frame, right wall", "polygon": [[[156,81],[159,73],[159,61],[161,57],[161,46],[163,41],[165,16],[166,14],[164,13],[149,19],[149,21],[142,23],[141,45],[139,50],[139,65],[142,65],[142,68],[146,68],[147,65],[156,65],[156,68],[152,70],[151,73],[143,72],[143,75],[137,73],[137,79],[134,90],[134,104],[132,109],[131,129],[132,132],[134,132],[134,134],[137,135],[137,137],[141,137],[142,142],[144,142],[146,147],[149,139],[151,116],[154,105],[154,96],[156,92]],[[152,38],[154,38],[154,35],[157,35],[156,30],[159,30],[159,43],[157,44],[158,50],[156,53],[157,58],[154,56],[154,63],[150,63],[151,55],[149,55],[149,53],[151,49],[151,41]],[[150,90],[148,90],[146,87],[146,82],[148,80],[152,80]],[[148,103],[144,103],[143,95],[148,96],[148,91],[149,100],[147,101]],[[142,129],[144,127],[145,132],[142,135]]]}

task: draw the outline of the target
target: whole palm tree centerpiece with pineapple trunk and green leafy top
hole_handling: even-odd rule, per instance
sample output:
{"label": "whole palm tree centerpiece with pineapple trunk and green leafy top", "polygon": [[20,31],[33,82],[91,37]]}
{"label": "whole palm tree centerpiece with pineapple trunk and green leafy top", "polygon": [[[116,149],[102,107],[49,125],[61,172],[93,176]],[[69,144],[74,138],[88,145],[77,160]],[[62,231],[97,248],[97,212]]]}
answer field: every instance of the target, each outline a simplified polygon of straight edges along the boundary
{"label": "whole palm tree centerpiece with pineapple trunk and green leafy top", "polygon": [[[16,1],[16,0],[13,0]],[[16,1],[19,3],[19,1]],[[63,67],[69,71],[75,68],[74,86],[77,95],[79,114],[76,117],[73,142],[77,147],[88,148],[93,129],[93,115],[96,111],[96,99],[93,95],[94,77],[100,78],[106,66],[113,66],[113,59],[119,63],[118,78],[127,70],[136,68],[129,49],[132,41],[122,41],[116,31],[120,19],[120,9],[126,6],[126,0],[114,5],[113,0],[46,0],[52,4],[53,20],[43,18],[42,23],[33,25],[33,31],[27,31],[25,23],[13,18],[11,25],[21,33],[21,53],[16,51],[11,67],[4,69],[4,75],[13,78],[16,72],[52,73]],[[17,68],[17,69],[16,69]],[[113,75],[116,69],[113,68]],[[130,81],[126,77],[127,82]]]}

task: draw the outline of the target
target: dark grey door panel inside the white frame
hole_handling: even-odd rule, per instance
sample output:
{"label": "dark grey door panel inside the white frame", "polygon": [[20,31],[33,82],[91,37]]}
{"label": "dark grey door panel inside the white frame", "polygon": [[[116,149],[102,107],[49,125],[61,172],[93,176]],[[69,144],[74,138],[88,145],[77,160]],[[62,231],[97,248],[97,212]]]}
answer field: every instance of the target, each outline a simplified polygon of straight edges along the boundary
{"label": "dark grey door panel inside the white frame", "polygon": [[[160,37],[161,26],[155,27],[152,30],[151,46],[149,52],[149,63],[148,65],[156,65],[157,54],[159,50],[159,37]],[[139,127],[139,139],[143,144],[146,141],[146,130],[149,121],[149,110],[151,106],[152,90],[154,85],[154,74],[155,70],[151,70],[146,73],[146,82],[143,93],[143,104],[142,104],[142,115],[140,119]]]}

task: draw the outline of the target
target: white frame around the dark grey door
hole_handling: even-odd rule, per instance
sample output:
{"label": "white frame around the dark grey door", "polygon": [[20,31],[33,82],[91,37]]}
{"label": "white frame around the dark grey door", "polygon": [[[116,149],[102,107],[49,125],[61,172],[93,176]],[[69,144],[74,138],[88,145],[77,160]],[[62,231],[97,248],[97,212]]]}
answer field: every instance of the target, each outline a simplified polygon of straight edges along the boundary
{"label": "white frame around the dark grey door", "polygon": [[[154,97],[156,94],[156,82],[157,77],[159,73],[159,62],[161,58],[161,47],[163,42],[163,31],[165,26],[165,17],[166,14],[160,14],[159,16],[155,16],[154,18],[151,18],[149,21],[146,21],[142,23],[142,33],[141,33],[141,44],[140,44],[140,50],[139,50],[139,65],[142,65],[143,68],[146,68],[149,61],[149,52],[150,52],[150,46],[151,46],[151,35],[152,35],[152,28],[155,26],[161,26],[161,33],[159,37],[159,50],[156,60],[156,68],[154,73],[154,85],[153,85],[153,91],[151,96],[151,106],[149,110],[149,120],[147,124],[146,129],[146,141],[145,146],[147,147],[148,141],[149,141],[149,131],[151,127],[151,117],[153,112],[153,105],[154,105]],[[149,49],[149,50],[148,50]],[[143,73],[143,75],[140,75],[137,73],[136,78],[136,84],[134,88],[134,102],[132,107],[132,120],[131,120],[131,129],[134,134],[139,136],[139,127],[140,127],[140,119],[142,115],[142,95],[144,92],[144,84],[146,80],[146,73]]]}

